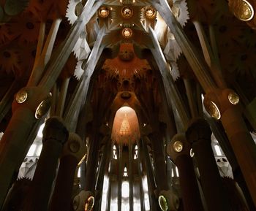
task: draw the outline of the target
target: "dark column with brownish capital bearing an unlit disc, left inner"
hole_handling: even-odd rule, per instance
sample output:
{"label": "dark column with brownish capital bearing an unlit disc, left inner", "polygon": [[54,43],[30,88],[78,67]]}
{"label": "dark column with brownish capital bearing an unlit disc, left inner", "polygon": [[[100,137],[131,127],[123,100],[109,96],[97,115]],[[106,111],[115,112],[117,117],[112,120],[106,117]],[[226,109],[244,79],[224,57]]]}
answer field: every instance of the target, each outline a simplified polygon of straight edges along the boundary
{"label": "dark column with brownish capital bearing an unlit disc, left inner", "polygon": [[85,153],[86,146],[80,137],[77,134],[69,134],[69,139],[62,150],[50,211],[70,210],[75,169]]}

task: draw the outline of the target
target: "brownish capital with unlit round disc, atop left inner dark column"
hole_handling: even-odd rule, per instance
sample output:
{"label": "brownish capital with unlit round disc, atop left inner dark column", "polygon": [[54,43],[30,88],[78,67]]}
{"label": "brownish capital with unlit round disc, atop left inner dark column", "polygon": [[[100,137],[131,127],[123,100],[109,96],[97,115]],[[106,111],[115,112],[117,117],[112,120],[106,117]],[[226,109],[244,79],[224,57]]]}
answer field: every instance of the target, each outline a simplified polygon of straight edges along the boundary
{"label": "brownish capital with unlit round disc, atop left inner dark column", "polygon": [[78,136],[78,134],[70,133],[67,142],[64,144],[61,157],[73,156],[77,158],[79,162],[85,153],[86,145],[83,143],[82,139]]}

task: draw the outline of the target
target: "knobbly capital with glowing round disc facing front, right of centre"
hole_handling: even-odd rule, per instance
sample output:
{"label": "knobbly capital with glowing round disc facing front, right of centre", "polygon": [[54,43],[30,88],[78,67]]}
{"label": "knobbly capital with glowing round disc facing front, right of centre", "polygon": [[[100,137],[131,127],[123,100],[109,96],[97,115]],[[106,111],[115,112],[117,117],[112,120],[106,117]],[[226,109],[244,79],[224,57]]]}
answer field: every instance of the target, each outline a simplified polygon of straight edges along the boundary
{"label": "knobbly capital with glowing round disc facing front, right of centre", "polygon": [[176,162],[179,156],[190,156],[191,143],[187,142],[185,134],[176,134],[167,145],[167,154]]}

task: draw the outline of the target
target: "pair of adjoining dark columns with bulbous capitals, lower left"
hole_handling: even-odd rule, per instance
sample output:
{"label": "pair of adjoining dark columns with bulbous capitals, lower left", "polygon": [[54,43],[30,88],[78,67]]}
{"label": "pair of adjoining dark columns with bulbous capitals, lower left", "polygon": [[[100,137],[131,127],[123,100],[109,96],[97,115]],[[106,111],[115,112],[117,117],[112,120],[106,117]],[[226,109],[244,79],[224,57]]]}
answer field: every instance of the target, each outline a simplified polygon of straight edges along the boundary
{"label": "pair of adjoining dark columns with bulbous capitals, lower left", "polygon": [[[15,209],[69,211],[75,172],[86,153],[86,146],[77,134],[67,131],[59,117],[46,121],[42,143],[42,152],[31,185],[28,192],[23,193],[26,195],[24,201]],[[12,199],[6,202],[12,202]],[[4,209],[10,210],[10,206],[13,204],[4,204]]]}

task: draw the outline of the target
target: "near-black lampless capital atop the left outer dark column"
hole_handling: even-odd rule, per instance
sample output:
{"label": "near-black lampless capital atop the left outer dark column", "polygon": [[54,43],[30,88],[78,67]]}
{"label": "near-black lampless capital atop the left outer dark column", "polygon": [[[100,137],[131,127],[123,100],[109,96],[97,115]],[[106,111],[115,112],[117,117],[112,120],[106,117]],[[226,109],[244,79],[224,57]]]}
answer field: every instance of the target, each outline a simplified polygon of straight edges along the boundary
{"label": "near-black lampless capital atop the left outer dark column", "polygon": [[69,137],[69,131],[67,131],[64,121],[59,117],[51,117],[45,123],[45,128],[42,131],[42,142],[46,142],[48,139],[54,139],[64,145]]}

